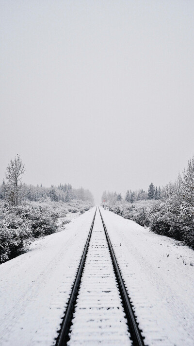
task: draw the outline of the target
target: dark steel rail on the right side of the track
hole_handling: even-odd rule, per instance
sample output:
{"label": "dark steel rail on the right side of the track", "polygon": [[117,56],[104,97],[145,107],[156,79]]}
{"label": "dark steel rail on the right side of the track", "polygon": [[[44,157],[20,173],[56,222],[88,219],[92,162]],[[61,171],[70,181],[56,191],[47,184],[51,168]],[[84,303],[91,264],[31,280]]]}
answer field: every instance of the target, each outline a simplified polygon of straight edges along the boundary
{"label": "dark steel rail on the right side of the track", "polygon": [[[99,207],[98,207],[98,209],[99,209]],[[112,257],[112,261],[113,261],[113,267],[114,267],[115,275],[116,275],[116,278],[117,278],[117,281],[118,281],[118,286],[119,286],[119,291],[121,293],[121,298],[122,298],[122,301],[123,301],[123,306],[124,306],[124,309],[125,309],[125,312],[126,312],[126,316],[127,316],[127,319],[128,319],[129,331],[130,331],[130,336],[131,336],[131,339],[132,339],[132,342],[133,342],[133,346],[145,346],[144,341],[143,341],[143,337],[142,337],[141,332],[140,332],[140,330],[138,328],[138,324],[137,324],[134,312],[133,312],[132,307],[131,307],[131,303],[130,303],[130,300],[129,300],[129,297],[128,297],[128,293],[126,291],[125,284],[123,282],[123,279],[122,279],[122,276],[121,276],[121,273],[120,273],[120,270],[119,270],[119,267],[118,267],[118,264],[117,264],[117,261],[116,261],[116,257],[114,255],[113,246],[111,244],[111,240],[109,238],[109,235],[108,235],[108,232],[107,232],[104,220],[102,218],[102,214],[100,212],[100,209],[99,209],[99,213],[100,213],[100,216],[101,216],[101,219],[102,219],[102,224],[103,224],[103,227],[104,227],[104,232],[105,232],[106,239],[107,239],[108,246],[109,246],[109,250],[110,250],[110,253],[111,253],[111,257]]]}

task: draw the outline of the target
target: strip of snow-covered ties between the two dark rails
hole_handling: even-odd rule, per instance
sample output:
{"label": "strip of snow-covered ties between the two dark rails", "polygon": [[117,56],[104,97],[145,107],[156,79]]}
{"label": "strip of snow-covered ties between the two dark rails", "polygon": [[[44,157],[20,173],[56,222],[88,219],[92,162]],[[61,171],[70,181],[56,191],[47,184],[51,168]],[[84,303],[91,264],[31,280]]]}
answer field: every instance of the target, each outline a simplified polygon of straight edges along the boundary
{"label": "strip of snow-covered ties between the two dark rails", "polygon": [[99,211],[90,239],[67,345],[131,345]]}

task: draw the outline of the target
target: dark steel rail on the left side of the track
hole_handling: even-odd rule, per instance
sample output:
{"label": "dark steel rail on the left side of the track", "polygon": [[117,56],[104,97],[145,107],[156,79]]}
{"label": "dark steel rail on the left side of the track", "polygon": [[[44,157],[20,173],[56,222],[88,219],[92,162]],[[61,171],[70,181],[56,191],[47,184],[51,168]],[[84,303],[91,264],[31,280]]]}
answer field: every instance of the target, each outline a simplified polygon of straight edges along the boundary
{"label": "dark steel rail on the left side of the track", "polygon": [[93,230],[93,226],[94,226],[94,220],[96,217],[96,213],[97,213],[97,208],[96,208],[94,218],[93,218],[93,221],[92,221],[92,224],[90,227],[90,231],[89,231],[86,243],[85,243],[85,247],[83,250],[82,257],[81,257],[81,262],[80,262],[80,265],[78,268],[76,279],[75,279],[74,284],[73,284],[71,296],[69,298],[68,305],[67,305],[67,308],[65,311],[65,317],[64,317],[64,320],[62,322],[61,330],[59,332],[59,336],[58,336],[57,341],[56,341],[56,346],[65,346],[67,343],[67,338],[68,338],[69,329],[71,326],[72,315],[73,315],[73,309],[74,309],[77,294],[78,294],[79,284],[80,284],[81,275],[82,275],[82,271],[83,271],[83,267],[84,267],[84,263],[85,263],[85,258],[86,258],[86,254],[87,254],[87,250],[88,250],[88,246],[89,246],[89,242],[90,242],[90,238],[91,238],[91,234],[92,234],[92,230]]}

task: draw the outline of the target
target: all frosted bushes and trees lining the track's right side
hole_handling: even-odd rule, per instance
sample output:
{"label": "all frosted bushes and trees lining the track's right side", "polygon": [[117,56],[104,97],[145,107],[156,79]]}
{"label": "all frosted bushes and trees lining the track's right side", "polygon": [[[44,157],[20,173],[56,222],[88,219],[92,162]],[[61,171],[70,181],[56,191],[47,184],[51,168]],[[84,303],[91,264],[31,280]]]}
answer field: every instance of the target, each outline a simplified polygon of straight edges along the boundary
{"label": "all frosted bushes and trees lining the track's right side", "polygon": [[[184,241],[194,248],[194,157],[175,183],[162,188],[149,185],[147,198],[135,200],[138,193],[127,191],[125,200],[103,193],[105,205],[114,213],[164,236]],[[132,197],[131,197],[132,196]]]}

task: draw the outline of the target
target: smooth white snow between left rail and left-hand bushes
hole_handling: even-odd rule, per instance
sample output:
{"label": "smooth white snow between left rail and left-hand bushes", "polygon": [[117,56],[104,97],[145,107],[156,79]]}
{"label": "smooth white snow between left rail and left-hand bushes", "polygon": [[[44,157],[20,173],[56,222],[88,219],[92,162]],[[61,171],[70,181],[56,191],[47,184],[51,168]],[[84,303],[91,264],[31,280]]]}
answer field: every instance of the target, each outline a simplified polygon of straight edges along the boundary
{"label": "smooth white snow between left rail and left-hand bushes", "polygon": [[0,265],[0,346],[55,345],[94,213]]}

